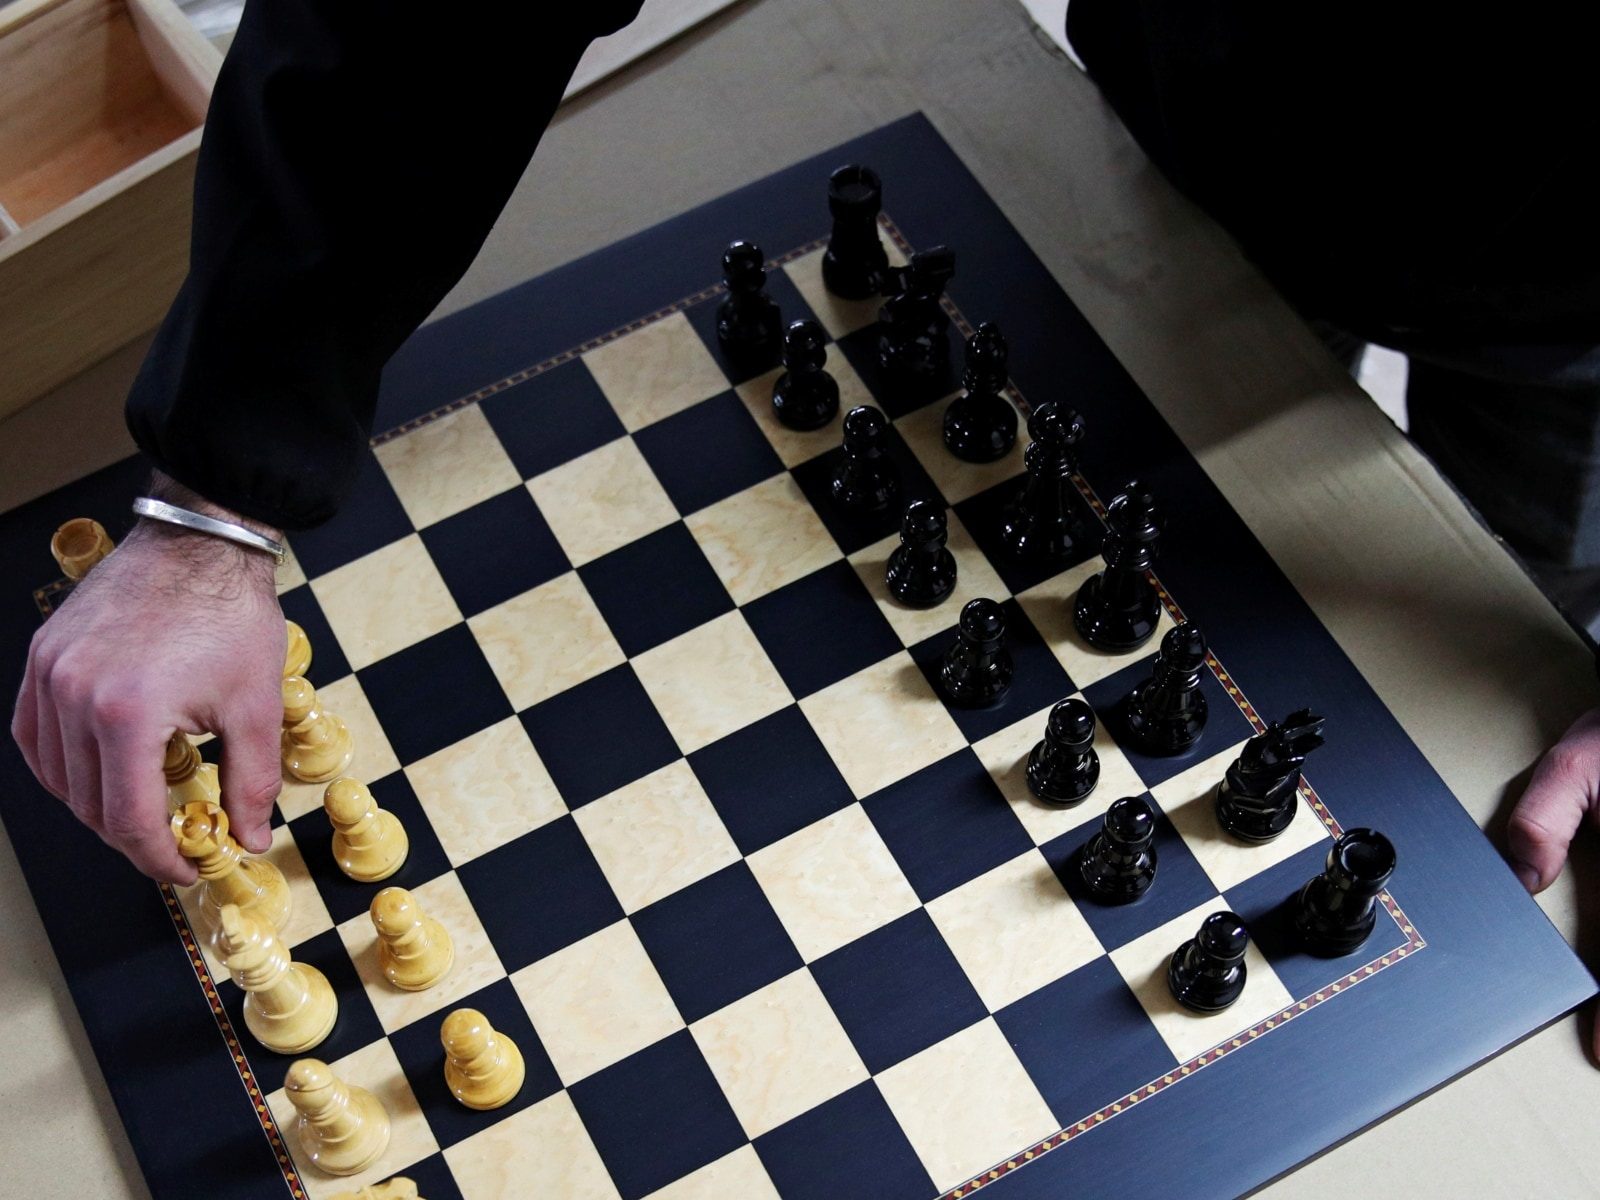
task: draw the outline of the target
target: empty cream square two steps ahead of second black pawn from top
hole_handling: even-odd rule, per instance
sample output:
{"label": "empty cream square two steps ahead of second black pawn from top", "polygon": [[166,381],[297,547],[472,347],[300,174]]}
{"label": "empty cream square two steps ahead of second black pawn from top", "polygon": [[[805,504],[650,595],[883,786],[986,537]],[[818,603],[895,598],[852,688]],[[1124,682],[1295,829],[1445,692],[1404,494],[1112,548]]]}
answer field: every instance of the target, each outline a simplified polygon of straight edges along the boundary
{"label": "empty cream square two steps ahead of second black pawn from top", "polygon": [[573,566],[582,566],[678,518],[678,510],[630,437],[606,442],[571,462],[534,475],[528,480],[528,491]]}

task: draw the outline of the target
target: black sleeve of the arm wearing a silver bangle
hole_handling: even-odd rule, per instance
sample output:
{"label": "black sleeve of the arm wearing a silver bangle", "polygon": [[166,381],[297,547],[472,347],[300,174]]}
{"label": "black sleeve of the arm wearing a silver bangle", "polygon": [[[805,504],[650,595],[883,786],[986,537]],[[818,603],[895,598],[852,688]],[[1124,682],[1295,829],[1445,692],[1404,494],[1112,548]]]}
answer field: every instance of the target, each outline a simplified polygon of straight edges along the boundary
{"label": "black sleeve of the arm wearing a silver bangle", "polygon": [[250,0],[189,278],[128,397],[139,448],[258,520],[331,517],[384,362],[472,262],[584,48],[640,2]]}

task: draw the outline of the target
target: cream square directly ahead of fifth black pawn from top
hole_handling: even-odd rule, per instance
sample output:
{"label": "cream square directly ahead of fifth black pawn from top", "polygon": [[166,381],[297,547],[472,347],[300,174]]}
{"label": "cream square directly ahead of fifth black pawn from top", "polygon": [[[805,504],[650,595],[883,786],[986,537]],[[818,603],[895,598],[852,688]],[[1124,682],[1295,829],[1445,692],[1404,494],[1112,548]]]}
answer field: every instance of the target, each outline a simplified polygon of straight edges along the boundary
{"label": "cream square directly ahead of fifth black pawn from top", "polygon": [[904,650],[806,696],[800,710],[858,800],[966,744]]}

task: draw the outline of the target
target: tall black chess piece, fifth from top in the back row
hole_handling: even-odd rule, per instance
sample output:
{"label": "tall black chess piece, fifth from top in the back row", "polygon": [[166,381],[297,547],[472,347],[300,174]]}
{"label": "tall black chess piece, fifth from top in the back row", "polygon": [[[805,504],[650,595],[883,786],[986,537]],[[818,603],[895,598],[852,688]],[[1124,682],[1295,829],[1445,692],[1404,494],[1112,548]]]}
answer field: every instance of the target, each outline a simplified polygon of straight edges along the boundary
{"label": "tall black chess piece, fifth from top in the back row", "polygon": [[1138,480],[1106,509],[1106,570],[1083,581],[1072,605],[1078,637],[1098,650],[1138,650],[1155,634],[1162,602],[1146,578],[1162,536],[1155,498]]}

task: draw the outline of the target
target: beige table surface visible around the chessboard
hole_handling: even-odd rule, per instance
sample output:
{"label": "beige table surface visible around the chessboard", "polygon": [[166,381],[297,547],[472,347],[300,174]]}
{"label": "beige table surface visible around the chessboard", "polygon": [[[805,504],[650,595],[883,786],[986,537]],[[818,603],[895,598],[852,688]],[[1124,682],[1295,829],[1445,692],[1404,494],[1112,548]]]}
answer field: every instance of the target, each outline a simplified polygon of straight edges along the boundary
{"label": "beige table surface visible around the chessboard", "polygon": [[[1541,749],[1597,702],[1586,654],[1014,0],[734,6],[563,110],[445,310],[915,109],[1493,830]],[[427,211],[416,218],[427,237]],[[118,408],[141,349],[0,424],[0,509],[128,453]],[[1590,962],[1595,840],[1541,898]],[[10,845],[0,963],[0,1195],[146,1195]],[[1557,1022],[1264,1195],[1600,1195],[1590,1018]]]}

